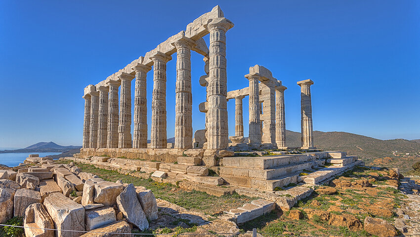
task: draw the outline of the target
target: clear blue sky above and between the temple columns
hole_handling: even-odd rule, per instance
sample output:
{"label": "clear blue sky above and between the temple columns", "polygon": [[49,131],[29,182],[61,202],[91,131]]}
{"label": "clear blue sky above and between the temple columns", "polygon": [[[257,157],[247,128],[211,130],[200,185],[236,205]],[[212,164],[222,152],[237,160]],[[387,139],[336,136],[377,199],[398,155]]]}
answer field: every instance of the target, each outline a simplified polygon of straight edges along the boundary
{"label": "clear blue sky above and between the temple columns", "polygon": [[[81,145],[83,88],[185,30],[217,4],[235,24],[227,32],[228,90],[248,86],[249,67],[270,69],[288,87],[288,130],[300,131],[296,82],[310,78],[314,130],[420,138],[418,0],[2,0],[0,147],[39,141]],[[176,55],[172,58],[168,137],[175,120]],[[192,52],[194,131],[204,128],[198,110],[205,100],[198,82],[203,74],[203,57]],[[150,133],[153,72],[147,76]],[[229,101],[229,135],[234,107]],[[244,124],[248,135],[247,113]]]}

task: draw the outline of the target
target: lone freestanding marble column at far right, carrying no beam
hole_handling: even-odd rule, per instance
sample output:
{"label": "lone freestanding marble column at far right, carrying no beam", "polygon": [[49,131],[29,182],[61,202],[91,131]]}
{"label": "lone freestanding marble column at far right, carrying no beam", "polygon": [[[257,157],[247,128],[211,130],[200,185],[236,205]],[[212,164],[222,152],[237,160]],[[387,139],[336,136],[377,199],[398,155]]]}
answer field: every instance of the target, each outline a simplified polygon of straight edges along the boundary
{"label": "lone freestanding marble column at far right, carrying no beam", "polygon": [[314,82],[310,79],[297,82],[297,85],[300,86],[302,149],[315,148],[312,128],[312,105],[310,88],[313,84]]}

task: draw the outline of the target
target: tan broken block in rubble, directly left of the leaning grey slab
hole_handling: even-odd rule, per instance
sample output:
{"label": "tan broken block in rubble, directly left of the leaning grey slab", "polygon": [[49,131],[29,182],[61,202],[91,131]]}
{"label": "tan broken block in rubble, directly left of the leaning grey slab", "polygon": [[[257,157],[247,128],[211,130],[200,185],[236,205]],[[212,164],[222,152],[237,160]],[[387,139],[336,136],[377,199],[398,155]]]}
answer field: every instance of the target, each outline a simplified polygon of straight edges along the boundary
{"label": "tan broken block in rubble, directly left of the leaning grey slab", "polygon": [[123,185],[104,181],[100,178],[88,179],[84,183],[82,204],[102,203],[106,206],[116,204],[117,196],[123,191]]}

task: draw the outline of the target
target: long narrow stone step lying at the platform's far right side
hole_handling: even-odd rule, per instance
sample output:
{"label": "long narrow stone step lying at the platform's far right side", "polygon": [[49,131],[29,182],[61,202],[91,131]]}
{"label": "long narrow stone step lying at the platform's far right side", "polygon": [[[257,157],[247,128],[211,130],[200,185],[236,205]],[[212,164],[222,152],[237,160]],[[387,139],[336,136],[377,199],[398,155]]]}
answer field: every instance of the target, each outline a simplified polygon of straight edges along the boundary
{"label": "long narrow stone step lying at the platform's far right side", "polygon": [[355,166],[363,165],[363,164],[364,164],[363,161],[356,161],[356,162],[350,163],[350,164],[342,166],[342,167],[330,166],[330,167],[312,172],[309,175],[301,176],[301,179],[305,183],[317,184],[319,182],[324,181],[325,179],[328,179],[328,178],[330,178],[334,175],[337,175],[341,172],[344,172],[347,169],[351,169]]}

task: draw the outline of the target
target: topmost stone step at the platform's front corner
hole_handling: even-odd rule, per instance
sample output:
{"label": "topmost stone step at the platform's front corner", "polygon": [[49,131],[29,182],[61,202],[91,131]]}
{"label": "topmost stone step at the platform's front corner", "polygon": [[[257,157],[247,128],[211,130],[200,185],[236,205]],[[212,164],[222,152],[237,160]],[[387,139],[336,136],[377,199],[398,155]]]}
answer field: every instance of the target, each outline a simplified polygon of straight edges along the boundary
{"label": "topmost stone step at the platform's front corner", "polygon": [[224,167],[241,167],[256,169],[273,169],[296,163],[303,163],[315,159],[306,154],[261,156],[261,157],[225,157],[222,160]]}

